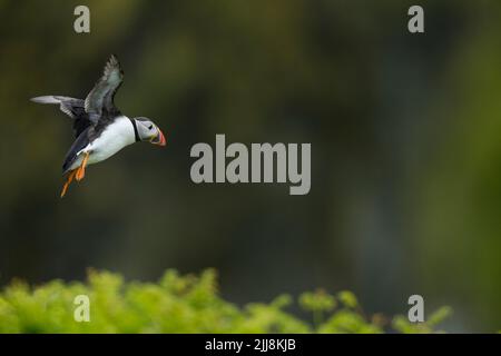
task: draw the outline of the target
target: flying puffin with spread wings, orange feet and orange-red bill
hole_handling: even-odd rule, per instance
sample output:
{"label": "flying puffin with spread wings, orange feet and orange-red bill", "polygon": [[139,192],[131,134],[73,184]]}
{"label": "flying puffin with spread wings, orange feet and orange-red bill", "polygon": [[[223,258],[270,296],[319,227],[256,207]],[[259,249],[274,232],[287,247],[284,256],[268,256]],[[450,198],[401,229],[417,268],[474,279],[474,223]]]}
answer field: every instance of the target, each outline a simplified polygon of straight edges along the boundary
{"label": "flying puffin with spread wings, orange feet and orange-red bill", "polygon": [[84,179],[87,166],[104,161],[124,147],[138,141],[165,146],[164,134],[150,119],[126,117],[115,106],[114,97],[122,80],[124,71],[117,57],[112,55],[105,66],[102,77],[85,100],[62,96],[31,99],[39,103],[58,103],[60,110],[73,119],[77,139],[62,164],[62,175],[67,177],[61,198],[73,178],[77,181]]}

